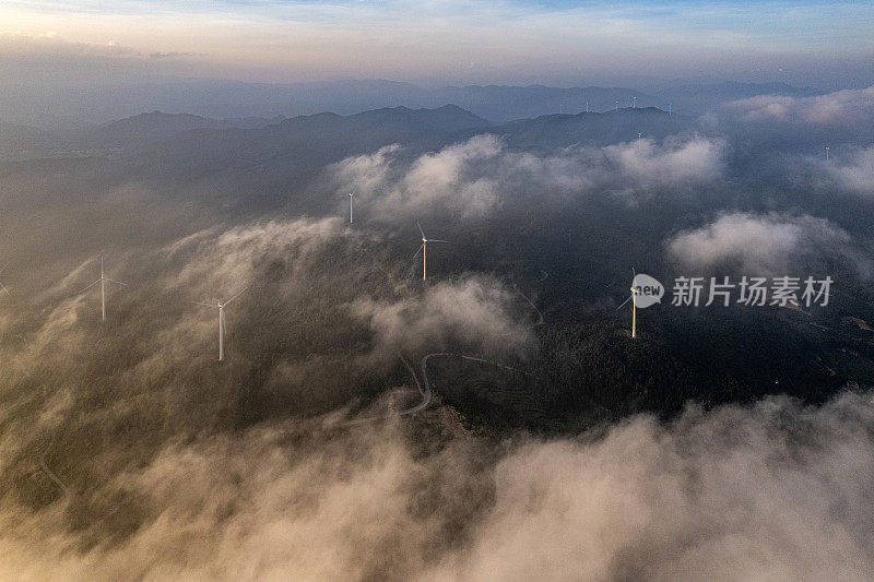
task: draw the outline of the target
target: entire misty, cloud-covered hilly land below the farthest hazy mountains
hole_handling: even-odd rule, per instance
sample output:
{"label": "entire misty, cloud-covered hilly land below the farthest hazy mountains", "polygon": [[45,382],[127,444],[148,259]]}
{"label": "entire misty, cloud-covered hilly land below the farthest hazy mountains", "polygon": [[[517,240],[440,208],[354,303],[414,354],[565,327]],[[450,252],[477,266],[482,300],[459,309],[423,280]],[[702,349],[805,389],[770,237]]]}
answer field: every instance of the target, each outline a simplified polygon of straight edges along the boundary
{"label": "entire misty, cloud-covered hilly land below the farthest hazy mountains", "polygon": [[871,97],[10,128],[0,574],[870,578]]}

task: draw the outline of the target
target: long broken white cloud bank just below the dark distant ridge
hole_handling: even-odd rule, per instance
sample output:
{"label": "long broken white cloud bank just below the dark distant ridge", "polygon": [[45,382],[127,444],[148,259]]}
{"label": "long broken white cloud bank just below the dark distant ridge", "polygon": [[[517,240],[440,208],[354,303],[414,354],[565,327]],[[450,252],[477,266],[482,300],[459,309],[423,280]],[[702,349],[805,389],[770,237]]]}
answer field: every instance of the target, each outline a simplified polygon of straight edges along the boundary
{"label": "long broken white cloud bank just below the dark distant ridge", "polygon": [[412,161],[398,145],[382,147],[332,165],[328,177],[355,192],[359,212],[383,221],[437,211],[471,218],[534,199],[557,204],[604,189],[634,198],[708,182],[722,171],[724,150],[721,140],[673,136],[539,155],[485,134]]}

